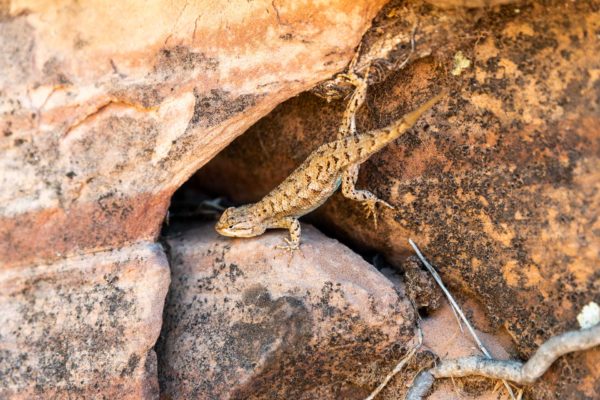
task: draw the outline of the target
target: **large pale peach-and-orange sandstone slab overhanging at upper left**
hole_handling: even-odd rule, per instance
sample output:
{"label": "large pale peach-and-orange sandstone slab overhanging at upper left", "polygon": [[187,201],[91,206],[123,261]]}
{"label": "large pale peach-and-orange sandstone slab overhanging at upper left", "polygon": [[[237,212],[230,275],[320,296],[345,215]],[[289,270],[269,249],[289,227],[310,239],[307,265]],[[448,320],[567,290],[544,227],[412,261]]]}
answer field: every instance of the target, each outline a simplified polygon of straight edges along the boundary
{"label": "large pale peach-and-orange sandstone slab overhanging at upper left", "polygon": [[172,192],[344,68],[383,3],[0,3],[0,266],[155,239]]}

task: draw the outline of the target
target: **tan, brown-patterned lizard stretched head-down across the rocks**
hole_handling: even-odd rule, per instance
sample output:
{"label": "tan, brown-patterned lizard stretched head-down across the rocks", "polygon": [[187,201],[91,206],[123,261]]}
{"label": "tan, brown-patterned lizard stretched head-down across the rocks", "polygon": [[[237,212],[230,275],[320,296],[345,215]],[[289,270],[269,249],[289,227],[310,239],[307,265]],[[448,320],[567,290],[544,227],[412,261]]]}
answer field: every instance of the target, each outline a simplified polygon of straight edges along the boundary
{"label": "tan, brown-patterned lizard stretched head-down across the rocks", "polygon": [[[337,140],[321,145],[283,182],[256,203],[229,207],[215,226],[216,231],[228,237],[254,237],[267,229],[288,229],[286,245],[277,246],[296,250],[300,246],[298,218],[321,206],[341,186],[342,194],[360,201],[375,215],[377,203],[391,207],[367,190],[355,188],[361,163],[388,143],[409,130],[423,113],[433,107],[445,94],[442,92],[406,114],[391,125],[378,130],[357,134],[354,115],[365,98],[366,79],[350,74],[357,87],[352,95]],[[350,135],[347,135],[350,131]],[[376,220],[375,220],[376,221]]]}

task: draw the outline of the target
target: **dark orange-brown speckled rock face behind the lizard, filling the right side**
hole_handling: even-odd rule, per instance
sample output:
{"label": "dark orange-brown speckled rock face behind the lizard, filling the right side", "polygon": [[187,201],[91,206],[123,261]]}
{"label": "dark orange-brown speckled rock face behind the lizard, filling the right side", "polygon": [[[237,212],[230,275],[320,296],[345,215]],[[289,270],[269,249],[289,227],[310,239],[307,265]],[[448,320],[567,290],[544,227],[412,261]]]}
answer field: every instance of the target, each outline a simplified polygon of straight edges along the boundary
{"label": "dark orange-brown speckled rock face behind the lizard, filling the right side", "polygon": [[[590,3],[390,7],[397,20],[377,20],[369,35],[410,32],[416,19],[421,58],[371,87],[359,131],[387,125],[440,86],[451,95],[361,168],[358,187],[395,206],[380,209],[378,229],[339,194],[314,220],[395,264],[412,254],[412,237],[526,359],[576,328],[600,295],[600,13]],[[308,94],[289,100],[203,168],[201,185],[240,203],[260,198],[335,137],[343,108]],[[599,357],[566,357],[530,396],[597,397]]]}

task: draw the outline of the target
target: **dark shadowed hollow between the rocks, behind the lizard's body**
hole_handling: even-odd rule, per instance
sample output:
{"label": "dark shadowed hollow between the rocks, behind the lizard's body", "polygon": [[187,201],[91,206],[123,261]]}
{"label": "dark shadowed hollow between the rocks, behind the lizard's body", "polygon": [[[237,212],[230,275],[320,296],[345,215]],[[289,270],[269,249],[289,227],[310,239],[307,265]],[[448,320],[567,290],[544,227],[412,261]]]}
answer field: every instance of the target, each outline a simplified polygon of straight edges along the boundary
{"label": "dark shadowed hollow between the rocks, behind the lizard's body", "polygon": [[[310,93],[280,104],[177,190],[163,235],[173,226],[214,225],[224,208],[260,200],[321,144],[336,139],[344,107],[344,101],[327,103]],[[365,186],[364,178],[361,174],[357,188]],[[378,269],[383,268],[377,261],[377,252],[352,241],[336,226],[336,214],[348,213],[347,202],[338,190],[325,204],[300,220],[347,245]],[[343,208],[338,211],[340,204]],[[362,216],[362,208],[352,206],[355,207],[350,212]],[[357,217],[355,223],[371,224],[372,220]]]}

